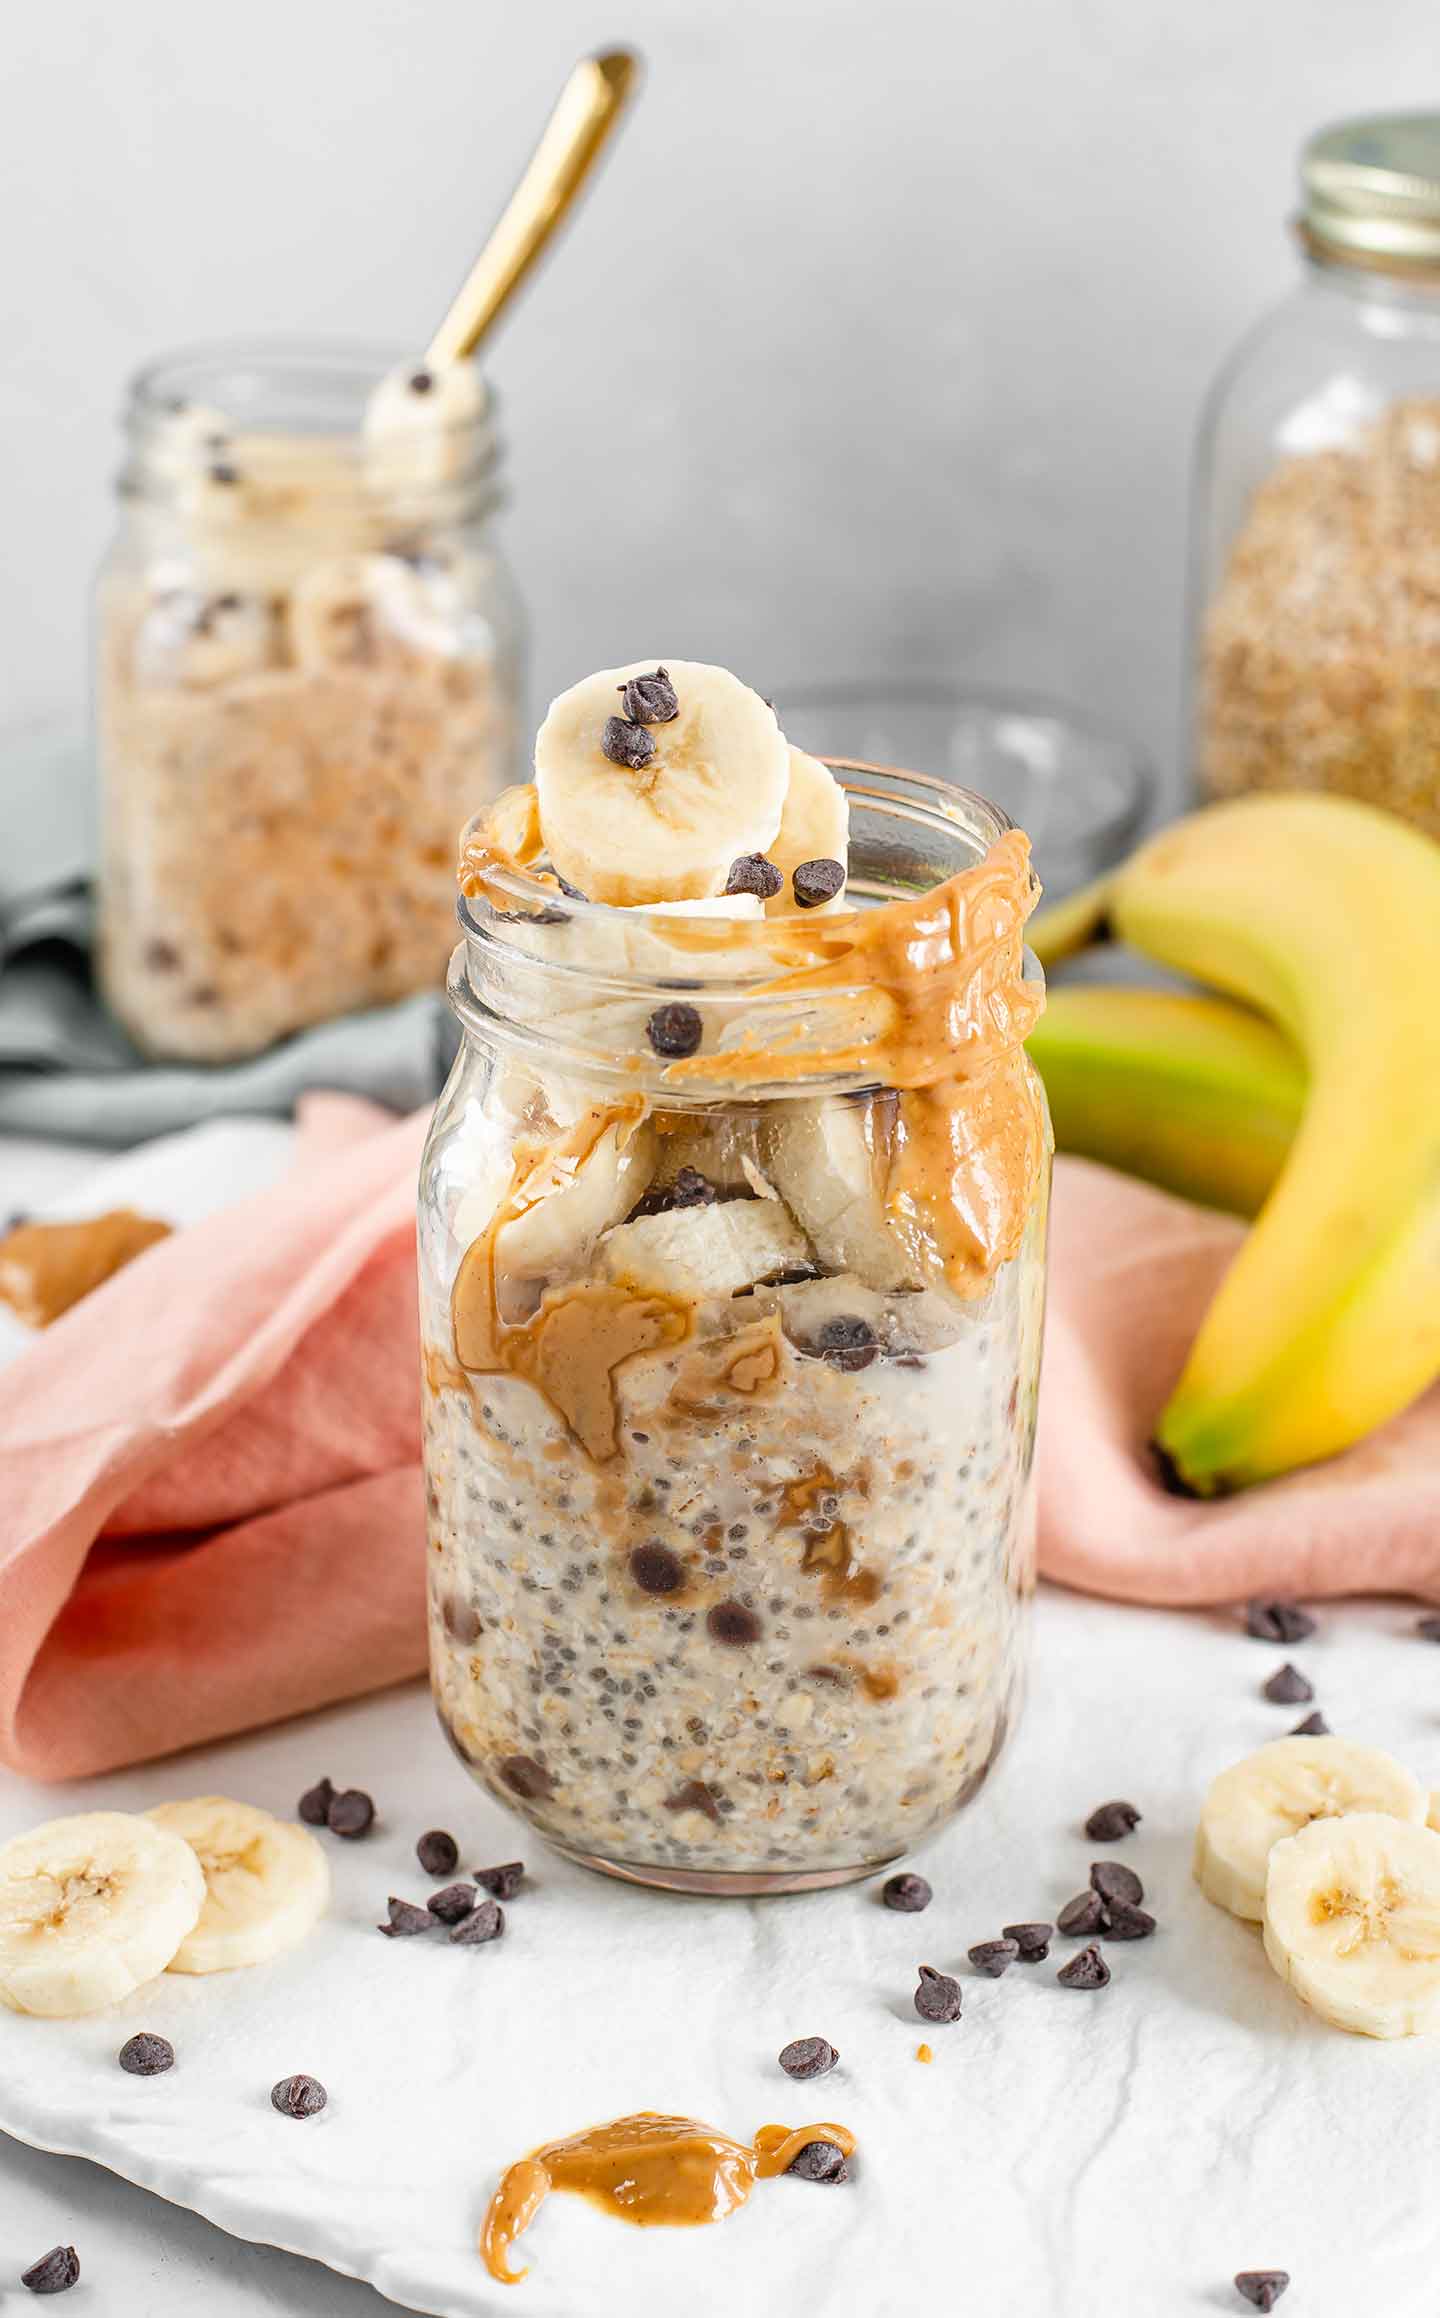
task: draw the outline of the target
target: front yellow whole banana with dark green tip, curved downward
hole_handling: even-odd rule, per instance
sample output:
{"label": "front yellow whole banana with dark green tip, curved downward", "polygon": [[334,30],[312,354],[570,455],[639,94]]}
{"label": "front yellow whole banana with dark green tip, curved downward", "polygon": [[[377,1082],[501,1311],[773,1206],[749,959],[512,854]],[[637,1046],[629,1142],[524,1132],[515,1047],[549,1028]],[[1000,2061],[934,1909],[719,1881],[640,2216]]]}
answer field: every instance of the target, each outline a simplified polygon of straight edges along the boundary
{"label": "front yellow whole banana with dark green tip, curved downward", "polygon": [[1213,1495],[1333,1456],[1440,1375],[1440,844],[1350,797],[1215,804],[1134,855],[1108,918],[1268,1015],[1310,1080],[1157,1426]]}

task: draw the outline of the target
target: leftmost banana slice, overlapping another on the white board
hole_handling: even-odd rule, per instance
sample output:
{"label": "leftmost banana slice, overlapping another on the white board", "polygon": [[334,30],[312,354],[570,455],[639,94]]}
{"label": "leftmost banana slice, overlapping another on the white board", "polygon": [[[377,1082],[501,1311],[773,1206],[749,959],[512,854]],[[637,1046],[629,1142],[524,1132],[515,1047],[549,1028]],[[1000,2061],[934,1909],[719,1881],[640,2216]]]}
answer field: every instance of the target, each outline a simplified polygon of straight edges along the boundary
{"label": "leftmost banana slice, overlapping another on the white board", "polygon": [[204,1908],[188,1843],[125,1810],[49,1820],[0,1850],[0,2005],[70,2019],[165,1970]]}

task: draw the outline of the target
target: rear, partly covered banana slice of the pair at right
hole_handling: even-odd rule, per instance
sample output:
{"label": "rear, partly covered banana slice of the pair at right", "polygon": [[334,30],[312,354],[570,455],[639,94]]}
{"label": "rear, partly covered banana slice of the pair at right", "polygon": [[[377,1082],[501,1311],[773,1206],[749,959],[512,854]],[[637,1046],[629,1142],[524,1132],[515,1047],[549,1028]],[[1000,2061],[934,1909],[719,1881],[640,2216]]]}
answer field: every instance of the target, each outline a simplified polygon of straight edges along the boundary
{"label": "rear, partly covered banana slice of the pair at right", "polygon": [[1384,1810],[1424,1827],[1428,1796],[1391,1755],[1350,1738],[1275,1738],[1210,1785],[1194,1838],[1194,1878],[1217,1908],[1252,1924],[1266,1912],[1275,1843],[1312,1820]]}

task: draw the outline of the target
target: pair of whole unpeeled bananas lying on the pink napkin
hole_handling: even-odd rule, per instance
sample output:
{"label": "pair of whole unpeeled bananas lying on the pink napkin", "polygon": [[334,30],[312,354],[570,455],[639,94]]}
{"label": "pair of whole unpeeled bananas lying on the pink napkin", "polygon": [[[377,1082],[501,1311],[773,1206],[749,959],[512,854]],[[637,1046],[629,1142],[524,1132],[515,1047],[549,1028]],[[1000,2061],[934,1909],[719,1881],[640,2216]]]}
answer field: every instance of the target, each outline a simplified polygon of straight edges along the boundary
{"label": "pair of whole unpeeled bananas lying on the pink napkin", "polygon": [[1157,1426],[1215,1495],[1440,1375],[1440,844],[1350,797],[1210,807],[1032,939],[1108,936],[1241,1001],[1057,992],[1032,1041],[1062,1147],[1257,1217]]}

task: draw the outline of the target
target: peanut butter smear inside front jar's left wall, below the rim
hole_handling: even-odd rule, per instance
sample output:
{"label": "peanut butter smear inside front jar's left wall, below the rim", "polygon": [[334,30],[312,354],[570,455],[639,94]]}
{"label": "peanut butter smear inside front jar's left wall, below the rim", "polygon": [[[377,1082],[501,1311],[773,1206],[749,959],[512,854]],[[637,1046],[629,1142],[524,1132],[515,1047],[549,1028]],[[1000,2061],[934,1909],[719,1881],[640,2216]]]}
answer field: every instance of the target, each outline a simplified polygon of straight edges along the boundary
{"label": "peanut butter smear inside front jar's left wall, below the rim", "polygon": [[619,1449],[619,1370],[640,1351],[679,1344],[691,1328],[691,1307],[677,1296],[638,1296],[635,1289],[584,1282],[550,1289],[529,1319],[512,1324],[499,1303],[496,1240],[538,1198],[566,1189],[603,1134],[614,1129],[624,1152],[642,1113],[645,1101],[633,1094],[587,1110],[550,1145],[517,1145],[510,1187],[480,1238],[466,1247],[450,1291],[459,1368],[524,1377],[598,1465]]}

